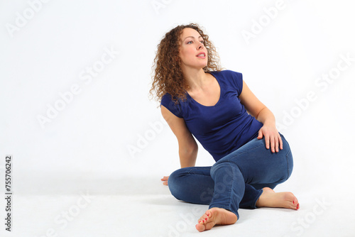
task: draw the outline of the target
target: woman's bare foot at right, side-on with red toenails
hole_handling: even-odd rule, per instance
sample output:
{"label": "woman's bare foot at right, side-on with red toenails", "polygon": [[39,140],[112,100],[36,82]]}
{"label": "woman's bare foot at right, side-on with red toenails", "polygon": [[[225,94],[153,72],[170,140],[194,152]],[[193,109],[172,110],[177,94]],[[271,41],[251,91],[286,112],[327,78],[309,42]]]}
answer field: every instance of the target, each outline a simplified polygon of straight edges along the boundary
{"label": "woman's bare foot at right, side-on with red toenails", "polygon": [[256,201],[258,207],[283,207],[298,210],[300,204],[292,192],[275,192],[269,187],[263,188],[263,193]]}

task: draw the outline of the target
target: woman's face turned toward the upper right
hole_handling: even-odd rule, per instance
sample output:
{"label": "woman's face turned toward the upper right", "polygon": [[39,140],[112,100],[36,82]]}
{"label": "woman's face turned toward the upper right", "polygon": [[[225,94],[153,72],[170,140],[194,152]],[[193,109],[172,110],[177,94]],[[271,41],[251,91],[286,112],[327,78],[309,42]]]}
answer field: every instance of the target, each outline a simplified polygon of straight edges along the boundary
{"label": "woman's face turned toward the upper right", "polygon": [[202,69],[207,66],[207,49],[203,38],[192,28],[185,28],[180,35],[179,57],[182,70],[187,68]]}

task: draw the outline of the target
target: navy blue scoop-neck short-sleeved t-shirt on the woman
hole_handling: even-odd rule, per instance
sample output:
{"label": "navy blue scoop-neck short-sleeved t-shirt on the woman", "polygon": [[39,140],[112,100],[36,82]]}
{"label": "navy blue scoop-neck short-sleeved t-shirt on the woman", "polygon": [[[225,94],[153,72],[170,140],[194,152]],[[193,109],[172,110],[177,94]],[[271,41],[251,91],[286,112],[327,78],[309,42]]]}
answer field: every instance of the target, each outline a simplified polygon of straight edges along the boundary
{"label": "navy blue scoop-neck short-sleeved t-shirt on the woman", "polygon": [[217,161],[256,138],[263,123],[248,114],[240,102],[241,73],[230,70],[210,73],[221,89],[219,101],[214,106],[204,106],[188,93],[187,100],[178,100],[178,104],[170,94],[165,94],[161,105],[175,116],[184,118],[192,135]]}

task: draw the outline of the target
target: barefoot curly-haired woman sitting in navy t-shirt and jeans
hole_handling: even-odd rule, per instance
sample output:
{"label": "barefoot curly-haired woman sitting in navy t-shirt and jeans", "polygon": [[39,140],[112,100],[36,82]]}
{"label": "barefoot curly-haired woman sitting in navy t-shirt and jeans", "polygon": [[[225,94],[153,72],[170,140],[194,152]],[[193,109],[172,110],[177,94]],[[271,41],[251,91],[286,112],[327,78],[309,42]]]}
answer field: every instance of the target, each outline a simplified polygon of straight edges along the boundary
{"label": "barefoot curly-haired woman sitting in navy t-shirt and jeans", "polygon": [[[198,231],[234,224],[239,208],[300,207],[292,193],[273,191],[293,170],[275,117],[241,73],[220,70],[217,59],[198,25],[177,26],[158,45],[151,89],[179,144],[181,169],[163,184],[177,199],[209,204]],[[194,136],[216,160],[212,167],[195,167]]]}

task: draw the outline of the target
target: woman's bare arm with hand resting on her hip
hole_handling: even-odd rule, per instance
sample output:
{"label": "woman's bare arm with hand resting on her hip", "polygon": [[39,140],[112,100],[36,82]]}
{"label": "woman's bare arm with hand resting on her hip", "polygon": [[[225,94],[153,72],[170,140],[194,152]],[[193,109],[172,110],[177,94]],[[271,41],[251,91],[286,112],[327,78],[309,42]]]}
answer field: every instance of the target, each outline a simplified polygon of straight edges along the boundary
{"label": "woman's bare arm with hand resting on her hip", "polygon": [[282,150],[283,140],[276,129],[275,116],[273,116],[270,109],[256,98],[244,81],[239,99],[249,114],[263,123],[263,126],[259,130],[258,139],[261,139],[264,136],[266,148],[271,148],[271,152],[273,153],[278,152],[278,148]]}

